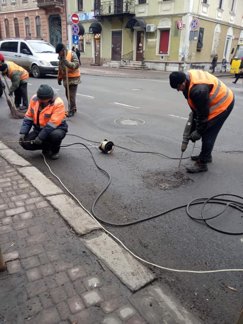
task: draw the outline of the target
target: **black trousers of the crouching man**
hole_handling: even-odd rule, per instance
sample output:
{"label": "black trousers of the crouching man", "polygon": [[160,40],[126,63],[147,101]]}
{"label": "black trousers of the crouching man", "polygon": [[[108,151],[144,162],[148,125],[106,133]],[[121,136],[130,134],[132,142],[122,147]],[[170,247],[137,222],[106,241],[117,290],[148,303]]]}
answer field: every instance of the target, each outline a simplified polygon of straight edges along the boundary
{"label": "black trousers of the crouching man", "polygon": [[[25,141],[34,141],[35,138],[38,136],[38,134],[39,134],[38,131],[33,130],[26,136]],[[60,145],[62,143],[62,140],[64,139],[65,136],[66,136],[66,131],[60,128],[56,128],[47,137],[47,139],[42,142],[41,145],[23,143],[22,147],[27,151],[50,149],[52,153],[58,153],[60,151]]]}

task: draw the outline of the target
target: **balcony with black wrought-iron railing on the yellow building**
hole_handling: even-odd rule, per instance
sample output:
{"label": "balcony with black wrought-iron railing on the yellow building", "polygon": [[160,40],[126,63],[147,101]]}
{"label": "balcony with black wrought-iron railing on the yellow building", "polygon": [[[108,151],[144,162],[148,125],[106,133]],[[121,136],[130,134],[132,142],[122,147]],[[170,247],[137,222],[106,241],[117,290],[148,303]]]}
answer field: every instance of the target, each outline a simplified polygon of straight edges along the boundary
{"label": "balcony with black wrought-iron railing on the yellow building", "polygon": [[97,18],[135,16],[135,0],[110,0],[95,3],[95,14]]}

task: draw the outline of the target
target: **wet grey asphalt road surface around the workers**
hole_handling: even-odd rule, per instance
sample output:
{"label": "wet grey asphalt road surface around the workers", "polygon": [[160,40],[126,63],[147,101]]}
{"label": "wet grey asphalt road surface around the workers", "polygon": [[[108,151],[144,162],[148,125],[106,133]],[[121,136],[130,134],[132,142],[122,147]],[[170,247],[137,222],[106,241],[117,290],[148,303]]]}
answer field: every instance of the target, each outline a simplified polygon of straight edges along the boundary
{"label": "wet grey asphalt road surface around the workers", "polygon": [[[232,84],[233,80],[233,77],[223,78],[233,89],[236,103],[219,133],[208,172],[187,173],[185,166],[192,163],[188,159],[183,160],[178,175],[178,160],[133,153],[118,147],[106,155],[97,148],[91,148],[98,165],[112,177],[110,187],[96,207],[99,217],[124,223],[198,197],[220,193],[242,194],[243,154],[239,151],[243,151],[243,88],[241,79],[237,85]],[[29,98],[44,83],[58,90],[67,107],[64,88],[58,86],[53,76],[42,79],[30,77]],[[22,120],[9,118],[4,97],[0,98],[0,103],[0,138],[2,141],[18,140]],[[182,93],[169,87],[167,78],[147,80],[84,75],[78,87],[77,109],[75,117],[68,122],[70,134],[97,142],[106,138],[115,145],[139,151],[180,156],[182,133],[190,110]],[[117,123],[117,119],[122,118],[131,120]],[[82,140],[72,136],[64,139],[64,143],[79,141]],[[9,146],[50,176],[39,151],[27,152],[18,144]],[[196,146],[200,147],[200,141]],[[191,150],[192,144],[184,156],[189,156]],[[194,153],[199,151],[199,148],[194,149]],[[69,190],[91,210],[95,197],[107,183],[107,177],[95,167],[87,149],[62,149],[58,160],[47,158],[47,161]],[[53,181],[58,184],[56,179]],[[207,215],[222,208],[210,205]],[[193,213],[199,215],[199,208],[193,208]],[[242,215],[232,209],[211,224],[222,229],[243,231]],[[139,256],[161,266],[196,271],[243,268],[243,235],[218,233],[203,222],[191,220],[185,208],[138,225],[107,227]],[[204,323],[236,323],[242,308],[242,272],[191,274],[162,271],[155,267],[151,269]]]}

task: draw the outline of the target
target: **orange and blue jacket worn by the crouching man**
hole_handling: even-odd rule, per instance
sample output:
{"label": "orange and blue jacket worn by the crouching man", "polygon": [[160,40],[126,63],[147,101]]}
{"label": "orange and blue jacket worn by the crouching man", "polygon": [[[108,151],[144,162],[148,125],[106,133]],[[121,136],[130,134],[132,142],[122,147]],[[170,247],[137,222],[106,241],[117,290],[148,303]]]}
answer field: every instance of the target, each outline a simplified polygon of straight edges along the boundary
{"label": "orange and blue jacket worn by the crouching man", "polygon": [[36,95],[34,95],[29,104],[29,109],[25,114],[23,124],[21,126],[21,134],[29,134],[31,127],[38,132],[38,136],[44,141],[52,131],[56,128],[63,129],[67,132],[68,125],[65,121],[65,106],[58,93],[53,89],[53,98],[48,106],[41,110],[39,114],[39,125],[37,121],[37,114],[40,107],[40,102]]}

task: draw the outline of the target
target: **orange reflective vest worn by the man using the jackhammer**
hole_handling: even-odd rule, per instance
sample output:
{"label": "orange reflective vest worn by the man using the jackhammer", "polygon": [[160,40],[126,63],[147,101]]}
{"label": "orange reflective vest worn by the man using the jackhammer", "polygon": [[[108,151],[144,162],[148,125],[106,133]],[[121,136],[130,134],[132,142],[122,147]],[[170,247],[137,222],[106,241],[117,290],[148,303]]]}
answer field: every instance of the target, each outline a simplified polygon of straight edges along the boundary
{"label": "orange reflective vest worn by the man using the jackhammer", "polygon": [[195,84],[208,84],[213,86],[209,94],[210,112],[208,121],[227,109],[227,107],[231,104],[234,95],[233,92],[226,87],[222,81],[220,81],[214,75],[201,70],[189,70],[188,73],[190,74],[191,82],[188,90],[187,101],[192,109],[196,110],[192,100],[190,99],[190,91]]}

